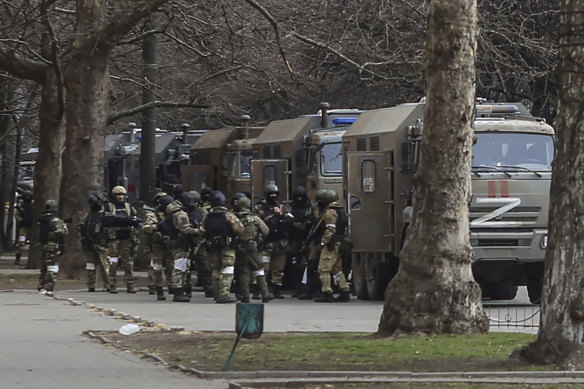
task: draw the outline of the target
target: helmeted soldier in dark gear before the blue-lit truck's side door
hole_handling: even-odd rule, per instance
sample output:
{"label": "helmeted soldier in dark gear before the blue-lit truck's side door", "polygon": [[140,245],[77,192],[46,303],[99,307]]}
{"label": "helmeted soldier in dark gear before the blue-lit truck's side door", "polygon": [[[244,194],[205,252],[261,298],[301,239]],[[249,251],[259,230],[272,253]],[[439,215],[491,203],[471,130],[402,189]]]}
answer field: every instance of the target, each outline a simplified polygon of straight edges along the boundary
{"label": "helmeted soldier in dark gear before the blue-lit truck's side door", "polygon": [[[265,199],[256,206],[257,215],[262,218],[269,227],[270,233],[266,238],[265,247],[262,252],[262,262],[266,273],[270,276],[270,285],[274,298],[283,299],[281,291],[283,288],[284,266],[286,265],[286,255],[288,252],[288,232],[293,219],[292,214],[287,209],[282,209],[278,199],[280,192],[274,184],[267,185]],[[254,286],[254,299],[257,287]]]}

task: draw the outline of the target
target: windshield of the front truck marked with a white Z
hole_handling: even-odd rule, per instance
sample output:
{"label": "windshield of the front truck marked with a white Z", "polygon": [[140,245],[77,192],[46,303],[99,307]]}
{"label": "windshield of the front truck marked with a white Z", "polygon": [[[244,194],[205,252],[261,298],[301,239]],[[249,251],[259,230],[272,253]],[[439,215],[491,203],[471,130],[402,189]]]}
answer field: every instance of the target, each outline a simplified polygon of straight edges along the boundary
{"label": "windshield of the front truck marked with a white Z", "polygon": [[473,168],[522,167],[534,171],[551,171],[554,139],[547,134],[508,132],[476,133]]}

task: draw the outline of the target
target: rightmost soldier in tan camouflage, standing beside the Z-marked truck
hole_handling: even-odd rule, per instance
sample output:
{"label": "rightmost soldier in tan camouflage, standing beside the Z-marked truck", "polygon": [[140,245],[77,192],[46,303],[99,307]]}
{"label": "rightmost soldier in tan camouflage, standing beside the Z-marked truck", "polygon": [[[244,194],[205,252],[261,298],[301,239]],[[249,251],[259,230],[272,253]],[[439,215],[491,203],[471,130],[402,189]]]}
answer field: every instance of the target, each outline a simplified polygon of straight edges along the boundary
{"label": "rightmost soldier in tan camouflage, standing beside the Z-marked truck", "polygon": [[[315,302],[330,303],[347,302],[351,299],[350,287],[343,273],[341,242],[345,236],[347,218],[343,212],[343,205],[338,202],[339,196],[332,189],[324,193],[324,202],[327,208],[324,211],[324,233],[320,240],[321,253],[318,262],[318,273],[322,283],[322,295],[314,299]],[[331,277],[338,283],[341,291],[337,298],[333,298]]]}

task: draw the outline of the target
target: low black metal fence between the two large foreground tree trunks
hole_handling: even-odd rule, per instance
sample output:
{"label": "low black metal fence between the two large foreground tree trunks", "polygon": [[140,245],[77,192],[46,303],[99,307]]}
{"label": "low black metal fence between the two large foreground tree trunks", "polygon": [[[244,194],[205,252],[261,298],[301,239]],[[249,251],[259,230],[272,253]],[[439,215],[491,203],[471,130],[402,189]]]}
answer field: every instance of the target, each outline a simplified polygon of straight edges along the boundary
{"label": "low black metal fence between the two large foreground tree trunks", "polygon": [[495,328],[538,328],[539,304],[483,303],[489,324]]}

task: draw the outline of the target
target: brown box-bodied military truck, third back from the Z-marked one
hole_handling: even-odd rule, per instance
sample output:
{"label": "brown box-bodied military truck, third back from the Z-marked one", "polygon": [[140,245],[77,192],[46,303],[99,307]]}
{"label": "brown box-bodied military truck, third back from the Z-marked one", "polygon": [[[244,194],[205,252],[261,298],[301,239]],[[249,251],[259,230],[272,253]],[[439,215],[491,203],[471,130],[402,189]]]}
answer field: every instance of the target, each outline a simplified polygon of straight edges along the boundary
{"label": "brown box-bodied military truck, third back from the Z-marked one", "polygon": [[190,164],[183,168],[183,189],[201,191],[210,186],[227,198],[251,191],[252,143],[263,130],[245,123],[207,131],[190,149]]}

